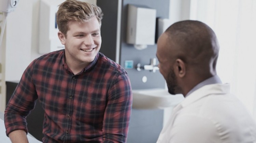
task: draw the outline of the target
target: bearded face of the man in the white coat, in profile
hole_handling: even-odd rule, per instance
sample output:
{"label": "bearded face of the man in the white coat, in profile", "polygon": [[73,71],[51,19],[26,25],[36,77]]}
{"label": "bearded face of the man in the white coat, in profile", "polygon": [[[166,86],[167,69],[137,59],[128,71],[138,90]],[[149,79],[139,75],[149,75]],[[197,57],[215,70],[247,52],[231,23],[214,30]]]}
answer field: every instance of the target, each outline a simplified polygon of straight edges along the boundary
{"label": "bearded face of the man in the white coat, in profile", "polygon": [[[168,35],[163,33],[157,41],[157,58],[159,61],[158,67],[160,73],[166,80],[168,92],[170,94],[177,94],[177,77],[173,70],[173,51],[170,50],[170,45],[168,43]],[[171,54],[171,55],[170,55]]]}

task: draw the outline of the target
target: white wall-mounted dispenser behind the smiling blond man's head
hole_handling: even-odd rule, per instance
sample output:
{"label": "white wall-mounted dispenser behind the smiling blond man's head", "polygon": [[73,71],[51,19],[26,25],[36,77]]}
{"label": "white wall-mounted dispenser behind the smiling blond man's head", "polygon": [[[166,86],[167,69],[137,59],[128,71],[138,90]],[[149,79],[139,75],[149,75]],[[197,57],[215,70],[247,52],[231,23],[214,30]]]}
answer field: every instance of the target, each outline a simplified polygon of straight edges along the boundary
{"label": "white wall-mounted dispenser behind the smiling blond man's head", "polygon": [[65,0],[41,0],[39,19],[39,53],[45,54],[64,49],[58,38],[56,13]]}

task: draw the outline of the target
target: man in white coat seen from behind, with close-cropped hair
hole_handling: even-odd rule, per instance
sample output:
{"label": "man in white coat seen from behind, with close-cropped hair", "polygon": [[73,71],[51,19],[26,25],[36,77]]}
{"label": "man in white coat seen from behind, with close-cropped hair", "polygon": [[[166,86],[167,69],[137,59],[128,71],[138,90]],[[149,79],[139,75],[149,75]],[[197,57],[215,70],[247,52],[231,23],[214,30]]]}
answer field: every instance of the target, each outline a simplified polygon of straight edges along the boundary
{"label": "man in white coat seen from behind, with close-cropped hair", "polygon": [[157,143],[256,143],[255,121],[216,74],[218,51],[215,33],[199,21],[176,22],[159,37],[159,70],[169,93],[185,100]]}

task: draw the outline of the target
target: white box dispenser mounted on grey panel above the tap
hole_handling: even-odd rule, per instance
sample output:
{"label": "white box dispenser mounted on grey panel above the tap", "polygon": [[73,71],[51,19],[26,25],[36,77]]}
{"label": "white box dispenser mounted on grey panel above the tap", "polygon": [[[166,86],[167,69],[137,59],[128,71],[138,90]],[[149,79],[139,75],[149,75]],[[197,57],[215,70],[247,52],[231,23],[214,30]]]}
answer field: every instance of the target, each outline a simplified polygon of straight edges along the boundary
{"label": "white box dispenser mounted on grey panel above the tap", "polygon": [[136,49],[155,44],[156,10],[145,6],[128,4],[127,39]]}

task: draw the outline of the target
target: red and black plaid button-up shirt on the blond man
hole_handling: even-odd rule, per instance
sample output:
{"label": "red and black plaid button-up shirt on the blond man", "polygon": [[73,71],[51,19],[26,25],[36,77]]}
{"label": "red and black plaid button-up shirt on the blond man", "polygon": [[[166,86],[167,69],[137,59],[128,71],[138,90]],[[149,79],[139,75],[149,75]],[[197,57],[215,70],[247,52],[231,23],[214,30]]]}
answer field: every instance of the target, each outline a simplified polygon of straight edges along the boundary
{"label": "red and black plaid button-up shirt on the blond man", "polygon": [[6,135],[17,129],[28,132],[26,116],[37,99],[45,111],[43,142],[126,142],[130,80],[101,53],[77,75],[68,68],[64,50],[32,61],[6,107]]}

